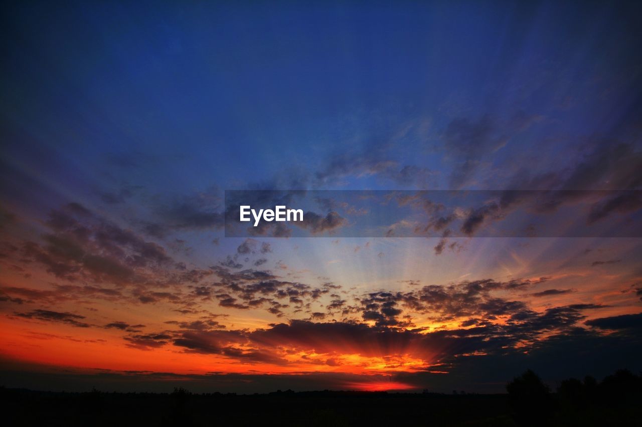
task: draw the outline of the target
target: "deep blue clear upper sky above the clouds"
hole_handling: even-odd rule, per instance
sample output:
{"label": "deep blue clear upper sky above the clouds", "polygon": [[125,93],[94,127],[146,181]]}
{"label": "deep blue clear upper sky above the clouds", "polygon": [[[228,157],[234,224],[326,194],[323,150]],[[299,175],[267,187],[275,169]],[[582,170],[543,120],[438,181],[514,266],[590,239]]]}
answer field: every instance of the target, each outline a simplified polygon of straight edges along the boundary
{"label": "deep blue clear upper sky above the clouds", "polygon": [[[633,22],[607,5],[15,9],[4,122],[37,141],[44,171],[49,154],[92,176],[108,174],[105,156],[144,163],[95,185],[269,187],[283,171],[347,153],[428,167],[438,188],[452,188],[462,153],[442,139],[453,119],[487,117],[501,132],[518,114],[541,117],[483,153],[494,169],[539,154],[535,173],[572,166],[580,138],[625,131],[639,102]],[[488,182],[464,187],[501,189],[510,178],[483,172]],[[399,187],[372,177],[347,185]]]}

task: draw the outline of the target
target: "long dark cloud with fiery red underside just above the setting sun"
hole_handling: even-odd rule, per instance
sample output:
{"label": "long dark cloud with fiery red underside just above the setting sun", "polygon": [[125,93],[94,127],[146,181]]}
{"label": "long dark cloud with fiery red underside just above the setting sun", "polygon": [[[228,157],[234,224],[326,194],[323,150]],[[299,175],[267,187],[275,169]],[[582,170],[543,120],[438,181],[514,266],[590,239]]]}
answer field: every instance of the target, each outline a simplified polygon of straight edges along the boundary
{"label": "long dark cloud with fiery red underside just above the setting sun", "polygon": [[[390,301],[390,296],[377,294],[373,301]],[[491,302],[492,303],[492,302]],[[383,305],[382,304],[382,305]],[[509,303],[509,305],[511,305]],[[570,305],[550,308],[542,313],[527,312],[523,305],[512,304],[509,308],[495,303],[498,312],[513,310],[525,313],[518,321],[514,316],[505,324],[476,321],[476,326],[460,330],[407,330],[390,328],[390,319],[398,315],[394,305],[383,310],[363,312],[365,320],[375,321],[375,326],[359,322],[311,322],[290,321],[275,324],[269,329],[247,334],[248,339],[259,347],[293,347],[300,351],[319,354],[359,354],[369,357],[410,355],[435,363],[442,358],[453,358],[469,353],[501,354],[507,347],[524,342],[545,340],[542,334],[557,331],[568,333],[578,321],[586,316],[584,310],[600,308],[596,305]],[[386,309],[389,309],[386,312]],[[491,308],[491,311],[494,310]],[[473,326],[473,323],[466,326]]]}

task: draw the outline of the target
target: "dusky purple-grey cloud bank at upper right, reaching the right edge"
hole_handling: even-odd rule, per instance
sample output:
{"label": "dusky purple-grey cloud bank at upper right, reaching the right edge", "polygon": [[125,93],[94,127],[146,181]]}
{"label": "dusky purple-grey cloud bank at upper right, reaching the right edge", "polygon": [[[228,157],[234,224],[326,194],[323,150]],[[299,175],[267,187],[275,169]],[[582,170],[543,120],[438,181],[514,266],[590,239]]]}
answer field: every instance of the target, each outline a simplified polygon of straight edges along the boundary
{"label": "dusky purple-grey cloud bank at upper right, reaching the right edge", "polygon": [[[520,128],[516,123],[515,128]],[[511,131],[508,131],[507,135]],[[455,119],[446,131],[447,153],[460,159],[458,167],[453,172],[454,187],[469,182],[482,162],[484,153],[492,152],[504,141],[495,137],[497,133],[490,119],[483,118],[479,122],[467,119]],[[492,194],[488,192],[486,199],[477,206],[466,208],[465,217],[454,215],[456,209],[465,206],[465,202],[473,201],[474,193],[465,199],[460,194],[460,203],[444,206],[433,203],[428,199],[428,193],[417,193],[412,206],[426,210],[429,215],[426,226],[421,226],[415,233],[426,234],[429,230],[440,231],[451,222],[462,219],[460,231],[472,236],[491,222],[501,221],[519,208],[526,208],[532,215],[548,215],[558,212],[562,206],[573,206],[577,215],[586,218],[587,226],[614,214],[625,215],[639,212],[642,208],[642,179],[639,169],[642,168],[642,152],[630,144],[618,144],[612,139],[598,140],[587,143],[592,147],[587,155],[580,156],[579,161],[567,169],[547,171],[531,176],[528,171],[517,172],[508,180],[507,190]],[[401,202],[400,205],[408,203]],[[540,224],[540,227],[542,224]],[[530,230],[530,231],[529,231]],[[584,233],[593,228],[585,228]],[[634,231],[638,233],[638,231]],[[542,233],[534,226],[526,228],[526,235]],[[546,230],[543,230],[546,234]],[[444,245],[437,249],[443,250]]]}

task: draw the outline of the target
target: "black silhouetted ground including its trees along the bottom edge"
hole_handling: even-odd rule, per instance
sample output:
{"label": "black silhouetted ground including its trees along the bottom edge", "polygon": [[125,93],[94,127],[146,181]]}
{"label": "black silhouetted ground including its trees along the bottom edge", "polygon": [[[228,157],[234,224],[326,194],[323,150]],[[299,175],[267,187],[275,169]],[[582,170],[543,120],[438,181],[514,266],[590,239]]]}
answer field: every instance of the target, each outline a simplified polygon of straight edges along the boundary
{"label": "black silhouetted ground including its trees along the bottom edge", "polygon": [[642,426],[642,378],[562,381],[526,371],[508,394],[274,392],[171,394],[0,389],[7,426]]}

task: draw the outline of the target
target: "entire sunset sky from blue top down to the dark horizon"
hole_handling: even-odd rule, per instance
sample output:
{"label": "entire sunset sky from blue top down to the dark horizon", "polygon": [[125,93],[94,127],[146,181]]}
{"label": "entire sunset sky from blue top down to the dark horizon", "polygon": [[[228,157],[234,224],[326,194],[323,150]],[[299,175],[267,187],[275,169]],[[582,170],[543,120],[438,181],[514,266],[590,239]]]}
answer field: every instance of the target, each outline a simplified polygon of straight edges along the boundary
{"label": "entire sunset sky from blue top down to the dark horizon", "polygon": [[642,370],[640,4],[1,7],[6,387]]}

